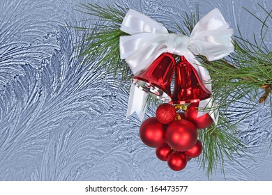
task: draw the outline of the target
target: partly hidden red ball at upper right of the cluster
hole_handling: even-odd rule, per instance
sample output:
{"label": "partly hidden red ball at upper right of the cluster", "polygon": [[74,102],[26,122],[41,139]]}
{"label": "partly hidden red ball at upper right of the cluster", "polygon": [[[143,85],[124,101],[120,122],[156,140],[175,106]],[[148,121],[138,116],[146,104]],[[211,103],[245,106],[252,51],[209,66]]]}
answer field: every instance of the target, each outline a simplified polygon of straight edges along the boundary
{"label": "partly hidden red ball at upper right of the cluster", "polygon": [[203,116],[197,117],[196,107],[198,107],[198,104],[198,102],[189,104],[187,107],[187,111],[185,112],[185,117],[186,119],[194,123],[197,129],[204,129],[213,124],[213,119],[211,118],[211,116],[209,116],[209,114],[204,114]]}

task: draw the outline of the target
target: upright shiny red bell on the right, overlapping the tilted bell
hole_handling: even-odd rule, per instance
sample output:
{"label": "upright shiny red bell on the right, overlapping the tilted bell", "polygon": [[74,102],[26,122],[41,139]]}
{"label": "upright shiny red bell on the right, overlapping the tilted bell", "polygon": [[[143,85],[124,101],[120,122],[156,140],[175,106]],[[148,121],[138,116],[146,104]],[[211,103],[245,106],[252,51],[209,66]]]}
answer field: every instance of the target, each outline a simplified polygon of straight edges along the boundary
{"label": "upright shiny red bell on the right, overlapping the tilted bell", "polygon": [[195,68],[181,56],[181,62],[176,64],[172,104],[199,102],[210,97],[211,93],[201,84]]}

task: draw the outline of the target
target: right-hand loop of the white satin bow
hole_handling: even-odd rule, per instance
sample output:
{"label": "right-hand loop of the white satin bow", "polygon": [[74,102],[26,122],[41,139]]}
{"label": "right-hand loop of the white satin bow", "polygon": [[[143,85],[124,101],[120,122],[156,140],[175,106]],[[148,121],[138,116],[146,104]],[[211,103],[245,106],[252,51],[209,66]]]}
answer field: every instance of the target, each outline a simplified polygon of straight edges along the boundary
{"label": "right-hand loop of the white satin bow", "polygon": [[190,51],[206,56],[209,61],[222,59],[234,52],[233,33],[220,10],[215,8],[202,17],[192,29]]}

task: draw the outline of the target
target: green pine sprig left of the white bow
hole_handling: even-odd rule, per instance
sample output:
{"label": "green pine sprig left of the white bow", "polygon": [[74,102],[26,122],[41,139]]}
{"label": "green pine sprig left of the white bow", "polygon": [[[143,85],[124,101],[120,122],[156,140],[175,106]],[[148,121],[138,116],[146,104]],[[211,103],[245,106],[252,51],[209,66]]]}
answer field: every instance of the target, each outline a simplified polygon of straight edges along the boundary
{"label": "green pine sprig left of the white bow", "polygon": [[114,78],[121,72],[121,80],[130,78],[130,70],[124,60],[120,59],[119,38],[127,34],[120,30],[123,17],[125,17],[127,8],[120,6],[99,6],[97,4],[88,3],[81,4],[78,11],[96,17],[91,19],[95,22],[91,28],[76,27],[77,30],[91,31],[84,38],[84,51],[80,56],[85,56],[86,61],[97,59],[98,68],[106,70],[106,72],[114,72]]}

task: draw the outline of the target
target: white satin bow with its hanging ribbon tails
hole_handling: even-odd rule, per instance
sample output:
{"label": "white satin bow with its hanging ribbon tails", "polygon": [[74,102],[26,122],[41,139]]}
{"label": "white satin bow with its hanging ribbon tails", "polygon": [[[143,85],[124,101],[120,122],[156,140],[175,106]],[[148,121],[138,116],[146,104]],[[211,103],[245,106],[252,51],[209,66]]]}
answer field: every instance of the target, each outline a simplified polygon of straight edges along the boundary
{"label": "white satin bow with its hanging ribbon tails", "polygon": [[[126,59],[134,75],[146,70],[149,65],[163,52],[185,56],[193,65],[202,84],[211,92],[211,77],[208,70],[196,59],[195,55],[206,56],[209,61],[222,59],[234,52],[232,44],[233,29],[217,8],[211,10],[195,25],[190,37],[182,34],[168,33],[163,24],[135,10],[128,10],[123,19],[121,31],[130,36],[120,37],[120,56]],[[147,94],[139,90],[134,84],[130,88],[127,117],[135,111],[139,119],[144,118]],[[214,122],[218,122],[211,98],[199,102],[199,107],[210,108],[209,111],[200,111],[197,116],[209,113]]]}

